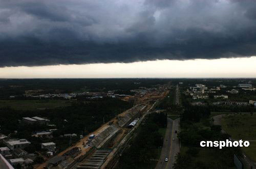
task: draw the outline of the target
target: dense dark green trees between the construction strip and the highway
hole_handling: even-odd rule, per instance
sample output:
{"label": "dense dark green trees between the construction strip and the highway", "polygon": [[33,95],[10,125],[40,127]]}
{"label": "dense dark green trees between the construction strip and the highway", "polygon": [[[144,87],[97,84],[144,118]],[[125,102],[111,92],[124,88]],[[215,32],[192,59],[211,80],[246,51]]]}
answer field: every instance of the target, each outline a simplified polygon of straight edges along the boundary
{"label": "dense dark green trees between the construction strip and the highway", "polygon": [[166,114],[154,112],[146,117],[144,123],[119,160],[118,168],[150,168],[150,159],[157,159],[157,149],[163,145],[159,128],[166,128]]}

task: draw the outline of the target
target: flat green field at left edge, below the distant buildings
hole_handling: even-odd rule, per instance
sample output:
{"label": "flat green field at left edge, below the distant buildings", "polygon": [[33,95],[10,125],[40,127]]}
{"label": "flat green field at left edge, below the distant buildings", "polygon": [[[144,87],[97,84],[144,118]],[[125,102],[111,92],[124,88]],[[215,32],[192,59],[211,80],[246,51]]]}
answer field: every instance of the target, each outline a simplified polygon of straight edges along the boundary
{"label": "flat green field at left edge, below the distant buildings", "polygon": [[57,108],[71,105],[67,100],[0,100],[0,107],[11,107],[20,110]]}

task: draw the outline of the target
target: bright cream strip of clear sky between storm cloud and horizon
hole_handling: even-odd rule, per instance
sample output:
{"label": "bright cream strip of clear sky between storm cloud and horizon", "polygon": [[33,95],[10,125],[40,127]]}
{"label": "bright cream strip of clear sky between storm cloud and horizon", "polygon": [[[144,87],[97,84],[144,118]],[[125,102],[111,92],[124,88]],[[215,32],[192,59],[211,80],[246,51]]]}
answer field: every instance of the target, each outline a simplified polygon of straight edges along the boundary
{"label": "bright cream strip of clear sky between storm cloud and horizon", "polygon": [[134,63],[0,68],[0,78],[245,78],[256,77],[256,57],[158,60]]}

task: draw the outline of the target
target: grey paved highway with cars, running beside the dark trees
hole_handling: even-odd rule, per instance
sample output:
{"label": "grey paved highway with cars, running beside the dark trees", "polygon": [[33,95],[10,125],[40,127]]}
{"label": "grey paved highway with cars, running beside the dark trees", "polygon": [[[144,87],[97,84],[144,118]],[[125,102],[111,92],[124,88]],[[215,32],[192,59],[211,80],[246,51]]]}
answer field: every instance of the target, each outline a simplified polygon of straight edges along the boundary
{"label": "grey paved highway with cars, running beside the dark trees", "polygon": [[[179,119],[173,121],[172,119],[167,118],[167,128],[164,136],[164,143],[156,169],[173,168],[175,155],[180,151],[180,142],[177,138],[177,133],[175,133],[175,130],[179,131]],[[167,162],[165,161],[165,158],[168,158]]]}

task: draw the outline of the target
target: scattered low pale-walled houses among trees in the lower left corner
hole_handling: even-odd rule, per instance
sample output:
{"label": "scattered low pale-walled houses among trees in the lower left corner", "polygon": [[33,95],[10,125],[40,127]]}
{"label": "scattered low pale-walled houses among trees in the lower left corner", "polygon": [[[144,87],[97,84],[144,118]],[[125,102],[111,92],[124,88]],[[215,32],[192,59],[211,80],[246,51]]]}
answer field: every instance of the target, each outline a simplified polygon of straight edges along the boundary
{"label": "scattered low pale-walled houses among trees in the lower left corner", "polygon": [[[19,120],[20,123],[27,124],[39,124],[46,125],[50,122],[48,119],[40,117],[25,117],[22,120]],[[52,138],[52,132],[57,129],[49,129],[47,131],[35,131],[31,136],[34,137],[48,137]],[[17,133],[17,131],[14,131]],[[0,143],[5,145],[5,147],[0,147],[0,154],[4,156],[9,163],[14,167],[27,168],[31,166],[34,160],[37,158],[38,154],[30,154],[25,148],[31,145],[31,142],[27,139],[18,139],[12,138],[11,134],[4,135],[0,134]],[[50,143],[41,143],[41,149],[46,151],[47,156],[53,156],[56,153],[56,144],[53,142]],[[17,166],[19,165],[19,166]]]}

